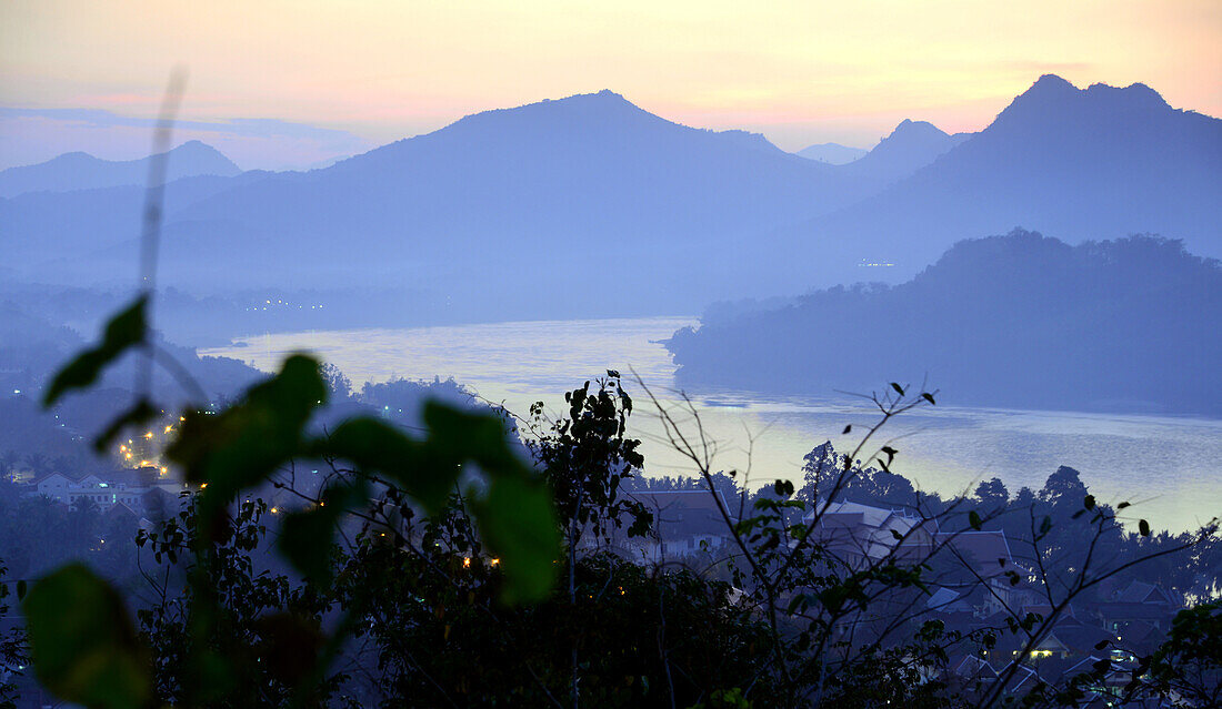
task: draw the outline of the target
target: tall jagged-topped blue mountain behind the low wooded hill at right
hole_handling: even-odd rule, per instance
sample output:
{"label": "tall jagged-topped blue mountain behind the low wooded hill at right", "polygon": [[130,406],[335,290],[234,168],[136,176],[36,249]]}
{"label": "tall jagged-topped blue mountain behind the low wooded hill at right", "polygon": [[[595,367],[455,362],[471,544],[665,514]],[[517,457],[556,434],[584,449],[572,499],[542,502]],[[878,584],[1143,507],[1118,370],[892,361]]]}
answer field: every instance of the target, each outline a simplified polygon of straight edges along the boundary
{"label": "tall jagged-topped blue mountain behind the low wooded hill at right", "polygon": [[958,239],[1015,225],[1080,239],[1162,233],[1222,256],[1220,184],[1222,121],[1144,84],[1077,89],[1050,74],[907,179],[777,234],[778,267],[818,260],[786,281],[830,284],[862,279],[863,260],[891,262],[869,277],[895,282]]}

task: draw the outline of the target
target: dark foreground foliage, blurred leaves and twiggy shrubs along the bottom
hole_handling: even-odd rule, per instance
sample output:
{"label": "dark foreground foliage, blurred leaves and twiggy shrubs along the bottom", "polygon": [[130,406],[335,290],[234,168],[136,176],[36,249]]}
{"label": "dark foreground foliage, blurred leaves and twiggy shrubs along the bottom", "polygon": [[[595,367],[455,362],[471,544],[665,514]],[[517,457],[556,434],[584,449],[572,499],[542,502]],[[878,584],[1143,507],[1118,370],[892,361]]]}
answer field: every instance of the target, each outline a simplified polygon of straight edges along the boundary
{"label": "dark foreground foliage, blurred leaves and twiggy shrubs along the bottom", "polygon": [[[49,400],[88,387],[110,359],[143,344],[143,321],[132,325],[142,303],[64,370]],[[621,497],[643,459],[626,437],[633,404],[617,373],[566,394],[558,421],[533,411],[533,466],[505,421],[440,404],[426,408],[422,437],[371,417],[319,432],[310,422],[336,388],[334,373],[295,356],[232,405],[185,412],[167,455],[198,493],[137,537],[153,555],[147,581],[156,596],[138,609],[138,625],[79,565],[18,589],[48,689],[87,707],[1074,705],[1116,669],[1106,660],[1022,692],[1008,688],[1019,663],[992,683],[945,683],[951,652],[986,652],[1008,635],[1026,655],[1075,598],[1132,564],[1088,559],[1055,582],[1041,569],[1046,616],[965,633],[926,620],[937,549],[912,556],[897,544],[862,563],[815,533],[831,499],[863,476],[890,475],[893,448],[859,459],[877,426],[851,455],[825,449],[808,460],[814,472],[802,489],[778,481],[749,508],[739,500],[741,515],[716,498],[731,545],[710,567],[639,566],[591,550],[650,528],[644,505]],[[875,398],[879,426],[934,404],[931,393],[891,387]],[[699,434],[657,409],[705,489],[725,487]],[[142,397],[108,434],[155,410]],[[318,487],[296,484],[307,462],[326,471]],[[864,467],[871,462],[881,472]],[[298,500],[277,525],[252,497],[268,484]],[[1031,519],[1036,561],[1059,553],[1062,524],[1077,525],[1068,533],[1091,550],[1119,528],[1114,510],[1066,489],[1048,500],[1064,520]],[[959,517],[973,530],[993,521],[952,503],[921,524]],[[915,533],[893,532],[899,542]],[[1149,536],[1144,524],[1140,534]],[[1216,610],[1180,614],[1168,643],[1133,671],[1128,696],[1216,699]],[[15,658],[23,646],[0,650]]]}

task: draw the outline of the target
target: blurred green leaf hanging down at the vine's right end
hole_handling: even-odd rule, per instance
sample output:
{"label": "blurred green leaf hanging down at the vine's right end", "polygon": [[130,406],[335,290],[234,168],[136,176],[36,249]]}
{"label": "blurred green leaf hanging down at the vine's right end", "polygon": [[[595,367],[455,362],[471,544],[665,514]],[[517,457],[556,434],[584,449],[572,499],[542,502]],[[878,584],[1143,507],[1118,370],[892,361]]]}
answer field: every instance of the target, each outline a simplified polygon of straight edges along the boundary
{"label": "blurred green leaf hanging down at the vine's right end", "polygon": [[556,576],[560,528],[551,492],[540,482],[502,476],[475,503],[479,530],[500,558],[507,603],[540,600]]}

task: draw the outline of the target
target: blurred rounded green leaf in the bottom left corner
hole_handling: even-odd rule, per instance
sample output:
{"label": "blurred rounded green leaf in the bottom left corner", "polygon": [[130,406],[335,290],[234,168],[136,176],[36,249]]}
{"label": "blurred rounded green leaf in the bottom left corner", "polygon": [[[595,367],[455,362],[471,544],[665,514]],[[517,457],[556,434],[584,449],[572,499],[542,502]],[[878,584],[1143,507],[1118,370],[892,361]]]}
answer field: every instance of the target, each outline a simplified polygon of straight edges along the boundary
{"label": "blurred rounded green leaf in the bottom left corner", "polygon": [[90,708],[152,704],[148,652],[105,581],[71,564],[34,583],[22,608],[34,671],[56,697]]}

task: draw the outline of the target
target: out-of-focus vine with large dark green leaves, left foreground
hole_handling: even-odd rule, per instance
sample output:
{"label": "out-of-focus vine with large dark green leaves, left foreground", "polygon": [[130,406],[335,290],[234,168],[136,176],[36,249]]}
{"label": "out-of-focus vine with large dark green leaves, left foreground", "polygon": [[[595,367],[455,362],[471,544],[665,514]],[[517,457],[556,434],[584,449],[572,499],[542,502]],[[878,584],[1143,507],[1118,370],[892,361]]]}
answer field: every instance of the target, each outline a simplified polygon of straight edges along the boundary
{"label": "out-of-focus vine with large dark green leaves, left foreground", "polygon": [[[101,343],[56,375],[44,403],[51,405],[73,389],[88,388],[130,349],[150,350],[148,301],[142,294],[116,315],[106,325]],[[152,351],[148,354],[152,366]],[[280,552],[318,587],[330,582],[331,539],[341,519],[369,504],[371,486],[392,484],[426,511],[440,510],[453,489],[466,487],[481,539],[503,559],[501,600],[534,600],[550,589],[552,561],[558,553],[551,497],[510,448],[497,417],[433,404],[424,414],[423,438],[411,438],[370,417],[345,421],[329,434],[318,436],[309,423],[327,395],[318,362],[295,355],[277,375],[253,386],[224,410],[183,412],[185,422],[166,455],[185,471],[188,482],[198,486],[191,510],[196,519],[188,525],[194,533],[174,532],[174,541],[187,545],[163,547],[160,552],[171,560],[176,555],[192,558],[189,596],[178,611],[181,622],[174,626],[183,633],[183,642],[176,643],[186,653],[176,688],[181,688],[178,699],[186,704],[221,702],[238,696],[235,692],[242,688],[232,681],[243,675],[242,658],[225,652],[236,644],[226,621],[232,602],[255,600],[232,596],[246,589],[233,588],[233,578],[218,571],[235,563],[230,554],[249,552],[254,543],[241,537],[235,541],[243,515],[249,517],[247,509],[240,508],[235,522],[232,510],[238,497],[293,461],[342,461],[351,472],[319,491],[314,504],[288,515],[280,530]],[[125,427],[154,415],[156,408],[145,390],[106,428],[99,447],[108,445]],[[479,478],[462,480],[464,469],[478,469]],[[275,600],[285,599],[274,596],[265,603]],[[351,633],[357,608],[360,605],[351,606],[348,617],[319,636],[316,657],[304,658],[306,666],[316,670],[299,677],[286,693],[293,703],[313,693],[326,660]],[[37,582],[24,599],[24,611],[38,678],[60,698],[88,707],[152,707],[165,699],[155,689],[159,682],[150,648],[136,632],[121,597],[88,569],[70,565]],[[147,620],[159,621],[156,616]],[[282,632],[268,637],[287,639]],[[295,649],[308,650],[309,646],[297,644]],[[166,688],[165,682],[160,685]]]}

